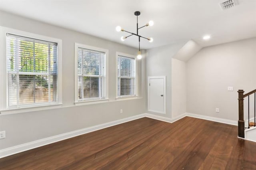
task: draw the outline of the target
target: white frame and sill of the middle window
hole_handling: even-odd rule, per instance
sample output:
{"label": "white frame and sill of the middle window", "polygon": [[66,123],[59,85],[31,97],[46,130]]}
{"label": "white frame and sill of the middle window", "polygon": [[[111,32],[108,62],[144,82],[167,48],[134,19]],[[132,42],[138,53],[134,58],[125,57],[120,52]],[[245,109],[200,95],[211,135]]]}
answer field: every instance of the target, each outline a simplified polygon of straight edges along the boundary
{"label": "white frame and sill of the middle window", "polygon": [[[86,99],[86,100],[82,100],[82,101],[78,101],[78,73],[77,73],[77,61],[78,61],[78,48],[85,48],[85,49],[91,49],[94,51],[101,51],[106,53],[106,60],[105,60],[105,67],[104,67],[104,85],[103,85],[103,94],[105,96],[104,99]],[[94,46],[90,46],[90,45],[85,45],[82,43],[75,43],[75,47],[74,47],[74,51],[75,51],[75,65],[74,65],[74,72],[75,72],[75,76],[74,76],[74,85],[75,85],[75,101],[74,104],[75,105],[88,105],[88,104],[96,104],[96,103],[104,103],[108,101],[108,49],[104,49],[104,48],[99,48],[99,47],[94,47]]]}

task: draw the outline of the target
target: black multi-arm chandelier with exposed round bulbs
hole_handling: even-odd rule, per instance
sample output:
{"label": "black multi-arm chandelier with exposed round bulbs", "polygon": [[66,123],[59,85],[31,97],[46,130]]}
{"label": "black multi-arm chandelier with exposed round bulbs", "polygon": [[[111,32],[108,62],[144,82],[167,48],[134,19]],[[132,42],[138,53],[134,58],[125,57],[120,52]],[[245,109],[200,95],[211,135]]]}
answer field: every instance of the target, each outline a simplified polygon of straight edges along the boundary
{"label": "black multi-arm chandelier with exposed round bulbs", "polygon": [[127,33],[130,34],[129,36],[126,36],[126,37],[122,36],[122,37],[121,37],[121,40],[122,40],[122,41],[124,41],[126,38],[128,38],[128,37],[130,37],[130,36],[133,36],[133,35],[134,35],[134,36],[138,36],[138,38],[139,38],[139,51],[138,51],[137,58],[138,58],[138,59],[141,59],[141,58],[142,58],[142,55],[141,55],[141,53],[140,53],[140,38],[144,38],[144,39],[148,40],[149,42],[153,42],[153,38],[145,38],[145,37],[140,36],[140,35],[139,35],[139,29],[140,29],[140,28],[143,28],[143,27],[147,27],[147,26],[153,26],[153,25],[154,25],[154,22],[153,22],[153,21],[149,21],[146,25],[144,25],[144,26],[142,26],[142,27],[139,28],[139,27],[138,27],[138,16],[140,15],[140,11],[134,12],[134,15],[137,16],[137,34],[132,33],[132,32],[128,32],[128,31],[124,30],[123,28],[121,28],[120,26],[117,26],[117,27],[116,27],[116,31],[117,31],[117,32],[120,32],[120,31],[122,31],[122,32],[127,32]]}

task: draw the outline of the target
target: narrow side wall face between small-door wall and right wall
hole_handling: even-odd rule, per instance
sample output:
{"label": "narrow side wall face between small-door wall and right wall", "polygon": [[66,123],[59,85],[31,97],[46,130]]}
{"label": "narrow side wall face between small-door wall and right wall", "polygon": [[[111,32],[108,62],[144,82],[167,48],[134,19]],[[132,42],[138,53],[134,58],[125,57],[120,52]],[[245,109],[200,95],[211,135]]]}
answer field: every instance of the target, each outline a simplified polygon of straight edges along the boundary
{"label": "narrow side wall face between small-door wall and right wall", "polygon": [[186,63],[172,58],[172,118],[186,113]]}

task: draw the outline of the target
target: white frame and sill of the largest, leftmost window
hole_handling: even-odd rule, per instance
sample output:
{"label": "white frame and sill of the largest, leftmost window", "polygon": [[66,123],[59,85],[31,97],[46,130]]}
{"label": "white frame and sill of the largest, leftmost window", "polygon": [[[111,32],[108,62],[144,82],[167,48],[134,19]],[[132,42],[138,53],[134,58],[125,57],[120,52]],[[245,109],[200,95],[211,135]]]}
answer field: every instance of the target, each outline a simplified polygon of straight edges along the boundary
{"label": "white frame and sill of the largest, leftmost window", "polygon": [[[56,103],[38,103],[31,105],[19,105],[16,108],[8,107],[8,75],[7,75],[7,60],[6,60],[6,48],[7,48],[7,36],[6,34],[14,34],[17,36],[23,36],[48,42],[58,43],[57,55],[58,55],[58,74],[57,74],[57,93],[58,102]],[[56,107],[61,107],[62,105],[62,40],[57,38],[51,38],[48,36],[42,36],[38,34],[33,34],[30,32],[24,32],[20,30],[15,30],[12,28],[0,26],[0,113],[21,113],[28,111],[38,111],[45,109],[53,109]]]}

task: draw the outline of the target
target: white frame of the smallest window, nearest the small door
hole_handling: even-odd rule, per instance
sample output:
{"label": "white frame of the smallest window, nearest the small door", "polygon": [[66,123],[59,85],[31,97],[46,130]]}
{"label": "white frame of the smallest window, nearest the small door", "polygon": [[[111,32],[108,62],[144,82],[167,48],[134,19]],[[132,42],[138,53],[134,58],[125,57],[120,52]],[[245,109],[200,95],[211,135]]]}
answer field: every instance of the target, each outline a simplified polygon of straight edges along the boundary
{"label": "white frame of the smallest window, nearest the small door", "polygon": [[[130,57],[135,59],[135,95],[125,95],[125,96],[118,96],[118,56],[123,56],[123,57]],[[138,61],[136,59],[135,55],[130,55],[126,53],[121,53],[121,52],[116,52],[116,100],[122,100],[122,99],[138,99],[138,69],[137,69],[137,64]]]}

